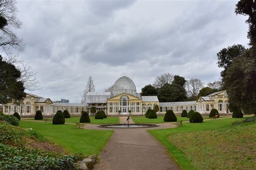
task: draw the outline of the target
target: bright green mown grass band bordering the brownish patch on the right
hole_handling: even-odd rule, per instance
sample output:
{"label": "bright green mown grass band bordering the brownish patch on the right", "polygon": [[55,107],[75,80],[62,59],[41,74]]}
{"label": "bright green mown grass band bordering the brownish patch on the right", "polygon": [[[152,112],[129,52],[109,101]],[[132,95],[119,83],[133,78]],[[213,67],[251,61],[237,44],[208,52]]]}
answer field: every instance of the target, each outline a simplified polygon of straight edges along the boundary
{"label": "bright green mown grass band bordering the brownish patch on the right", "polygon": [[[240,120],[242,120],[242,118],[217,119],[213,121],[205,121],[203,123],[184,123],[180,128],[148,130],[148,132],[167,147],[167,150],[171,156],[174,158],[174,160],[176,160],[177,164],[179,164],[182,169],[196,169],[196,167],[191,163],[192,158],[187,157],[183,151],[171,143],[170,138],[172,136],[176,136],[177,134],[184,134],[182,135],[182,138],[186,138],[184,132],[204,131],[207,133],[205,130],[225,128],[227,126],[231,126],[233,122]],[[189,143],[190,141],[186,140],[186,143],[183,143],[183,145],[188,145]]]}

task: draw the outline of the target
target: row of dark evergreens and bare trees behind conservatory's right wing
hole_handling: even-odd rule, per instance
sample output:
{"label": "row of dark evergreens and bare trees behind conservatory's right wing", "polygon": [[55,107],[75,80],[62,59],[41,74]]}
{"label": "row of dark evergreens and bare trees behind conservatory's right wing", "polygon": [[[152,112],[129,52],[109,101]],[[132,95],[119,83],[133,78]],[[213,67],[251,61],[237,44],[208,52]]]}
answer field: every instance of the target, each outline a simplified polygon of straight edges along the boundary
{"label": "row of dark evergreens and bare trees behind conservatory's right wing", "polygon": [[200,96],[207,96],[215,91],[223,90],[220,81],[214,81],[204,87],[200,79],[185,80],[179,75],[164,73],[156,76],[153,85],[142,88],[142,96],[157,96],[160,102],[195,101]]}

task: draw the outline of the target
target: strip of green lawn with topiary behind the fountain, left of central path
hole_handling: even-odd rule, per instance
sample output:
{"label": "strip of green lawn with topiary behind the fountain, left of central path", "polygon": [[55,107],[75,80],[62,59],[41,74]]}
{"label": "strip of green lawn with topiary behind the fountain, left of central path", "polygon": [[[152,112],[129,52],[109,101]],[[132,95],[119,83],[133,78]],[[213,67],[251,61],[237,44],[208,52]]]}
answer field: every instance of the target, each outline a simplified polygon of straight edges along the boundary
{"label": "strip of green lawn with topiary behind the fountain, left of central path", "polygon": [[[35,120],[35,119],[29,119],[29,120]],[[51,119],[52,120],[52,119]],[[65,118],[65,122],[67,123],[76,123],[79,122],[80,117],[71,117],[71,118]],[[107,117],[104,119],[95,119],[94,116],[90,116],[91,123],[90,124],[117,124],[119,123],[119,117]],[[43,120],[41,120],[43,121]]]}

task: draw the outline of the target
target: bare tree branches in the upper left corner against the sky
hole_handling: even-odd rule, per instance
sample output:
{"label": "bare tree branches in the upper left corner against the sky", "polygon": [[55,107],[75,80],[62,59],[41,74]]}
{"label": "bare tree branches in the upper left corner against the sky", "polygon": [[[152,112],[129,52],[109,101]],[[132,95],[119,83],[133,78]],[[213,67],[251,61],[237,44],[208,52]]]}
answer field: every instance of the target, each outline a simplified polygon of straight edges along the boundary
{"label": "bare tree branches in the upper left corner against the sky", "polygon": [[20,29],[21,22],[18,20],[16,0],[1,0],[0,1],[0,46],[7,53],[10,48],[17,51],[23,49],[23,40],[19,39],[13,29]]}

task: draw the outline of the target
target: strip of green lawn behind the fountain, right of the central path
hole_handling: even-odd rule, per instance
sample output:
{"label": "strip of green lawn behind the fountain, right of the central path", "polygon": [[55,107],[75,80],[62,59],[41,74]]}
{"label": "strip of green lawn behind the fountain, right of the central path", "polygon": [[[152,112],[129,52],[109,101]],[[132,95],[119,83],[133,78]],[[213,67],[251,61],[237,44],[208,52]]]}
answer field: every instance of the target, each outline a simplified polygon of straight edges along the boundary
{"label": "strip of green lawn behind the fountain, right of the central path", "polygon": [[[203,116],[204,119],[210,119],[208,116]],[[134,123],[166,123],[164,116],[157,116],[156,119],[149,119],[145,116],[132,116]],[[189,118],[177,116],[178,121],[189,121]]]}

